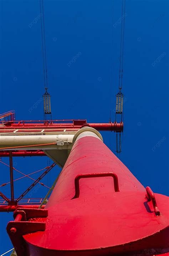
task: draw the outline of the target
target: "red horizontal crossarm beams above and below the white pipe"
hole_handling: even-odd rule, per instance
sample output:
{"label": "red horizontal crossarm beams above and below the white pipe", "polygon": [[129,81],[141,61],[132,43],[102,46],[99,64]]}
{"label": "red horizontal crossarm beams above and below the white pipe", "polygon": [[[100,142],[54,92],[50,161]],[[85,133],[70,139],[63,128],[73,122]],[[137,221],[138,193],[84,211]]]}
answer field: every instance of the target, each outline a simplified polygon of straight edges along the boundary
{"label": "red horizontal crossarm beams above and below the white pipe", "polygon": [[[123,131],[123,122],[109,122],[109,123],[87,123],[86,119],[62,119],[62,120],[26,120],[26,121],[9,121],[4,123],[0,121],[0,133],[9,133],[16,131],[20,132],[41,132],[45,129],[44,132],[59,132],[59,131],[78,131],[84,126],[92,127],[98,131],[114,131],[122,132]],[[17,131],[18,129],[18,131]],[[17,157],[26,157],[26,156],[46,156],[46,154],[41,150],[34,151],[14,151],[12,156]],[[9,157],[8,151],[0,151],[0,157]]]}

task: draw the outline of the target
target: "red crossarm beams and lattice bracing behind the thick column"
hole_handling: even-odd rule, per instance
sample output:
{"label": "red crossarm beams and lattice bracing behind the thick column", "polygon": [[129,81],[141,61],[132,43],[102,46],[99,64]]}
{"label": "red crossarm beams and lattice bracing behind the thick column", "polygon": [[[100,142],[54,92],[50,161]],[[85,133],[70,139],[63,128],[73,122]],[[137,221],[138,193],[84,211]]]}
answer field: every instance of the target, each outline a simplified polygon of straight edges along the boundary
{"label": "red crossarm beams and lattice bracing behind the thick column", "polygon": [[[114,131],[114,132],[122,132],[123,131],[123,122],[109,122],[109,123],[87,123],[86,119],[62,119],[62,120],[15,120],[15,112],[14,110],[8,111],[6,113],[0,114],[0,135],[17,135],[18,133],[41,133],[44,134],[47,132],[63,132],[63,131],[73,131],[76,132],[80,128],[88,126],[92,127],[98,131]],[[36,180],[31,177],[30,173],[25,174],[20,172],[16,168],[13,167],[12,157],[26,157],[26,156],[46,156],[46,154],[41,150],[18,150],[18,151],[10,151],[1,150],[0,157],[9,157],[10,164],[6,164],[2,160],[0,163],[5,164],[10,169],[10,181],[0,184],[0,187],[6,186],[10,184],[10,193],[11,198],[6,197],[2,192],[0,192],[0,211],[14,211],[17,207],[26,207],[26,208],[39,208],[40,204],[43,201],[43,198],[25,198],[27,193],[37,184],[40,183],[42,186],[47,187],[43,184],[41,179],[51,171],[51,169],[56,165],[53,163],[51,166],[47,166],[41,170],[36,172],[43,171],[43,173]],[[23,176],[15,179],[13,178],[13,171],[17,171],[21,173]],[[29,186],[18,198],[14,198],[14,182],[22,179],[24,177],[30,178],[33,180],[31,186]],[[49,188],[49,187],[47,187]],[[50,189],[50,188],[49,188]]]}

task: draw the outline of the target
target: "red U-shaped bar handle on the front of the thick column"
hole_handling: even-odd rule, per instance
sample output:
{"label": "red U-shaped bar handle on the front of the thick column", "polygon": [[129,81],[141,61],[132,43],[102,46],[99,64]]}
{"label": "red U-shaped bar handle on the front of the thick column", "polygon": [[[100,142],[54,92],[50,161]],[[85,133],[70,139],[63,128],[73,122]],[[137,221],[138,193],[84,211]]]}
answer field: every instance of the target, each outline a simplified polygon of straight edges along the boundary
{"label": "red U-shaped bar handle on the front of the thick column", "polygon": [[75,177],[75,196],[72,199],[78,198],[80,196],[80,185],[79,181],[82,178],[95,178],[95,177],[113,177],[114,180],[114,190],[115,192],[119,192],[118,185],[118,177],[117,174],[113,172],[100,172],[100,173],[86,173],[86,174],[78,174]]}

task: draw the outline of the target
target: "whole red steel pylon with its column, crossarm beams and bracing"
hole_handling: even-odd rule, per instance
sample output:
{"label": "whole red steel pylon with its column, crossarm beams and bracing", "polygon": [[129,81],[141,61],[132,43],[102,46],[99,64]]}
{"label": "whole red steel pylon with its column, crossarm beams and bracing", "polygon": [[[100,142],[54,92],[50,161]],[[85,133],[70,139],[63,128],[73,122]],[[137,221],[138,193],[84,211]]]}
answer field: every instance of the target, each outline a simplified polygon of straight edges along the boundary
{"label": "whole red steel pylon with its column, crossarm beams and bracing", "polygon": [[17,256],[153,256],[169,252],[168,197],[144,188],[103,143],[98,130],[121,132],[123,123],[55,120],[0,124],[1,136],[74,134],[70,154],[46,206],[42,206],[42,198],[31,201],[24,197],[56,163],[46,167],[15,199],[12,156],[45,153],[1,148],[0,156],[10,157],[11,198],[0,193],[0,211],[14,211],[7,232]]}

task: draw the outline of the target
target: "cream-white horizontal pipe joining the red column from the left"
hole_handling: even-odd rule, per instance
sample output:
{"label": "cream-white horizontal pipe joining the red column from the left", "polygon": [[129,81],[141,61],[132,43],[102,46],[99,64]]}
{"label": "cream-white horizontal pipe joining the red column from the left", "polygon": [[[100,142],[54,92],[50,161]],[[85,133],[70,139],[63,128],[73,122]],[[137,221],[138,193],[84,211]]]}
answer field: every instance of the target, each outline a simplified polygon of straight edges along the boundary
{"label": "cream-white horizontal pipe joining the red column from the left", "polygon": [[[19,147],[19,146],[30,146],[38,144],[48,144],[58,141],[64,141],[67,143],[72,143],[74,135],[26,135],[26,136],[0,136],[0,149],[6,147]],[[49,146],[35,146],[29,148],[20,148],[22,150],[26,149],[57,149],[60,146],[49,145]],[[16,148],[20,150],[19,148]],[[6,149],[7,150],[7,149]],[[11,149],[8,149],[11,150]],[[14,148],[15,150],[15,148]]]}

